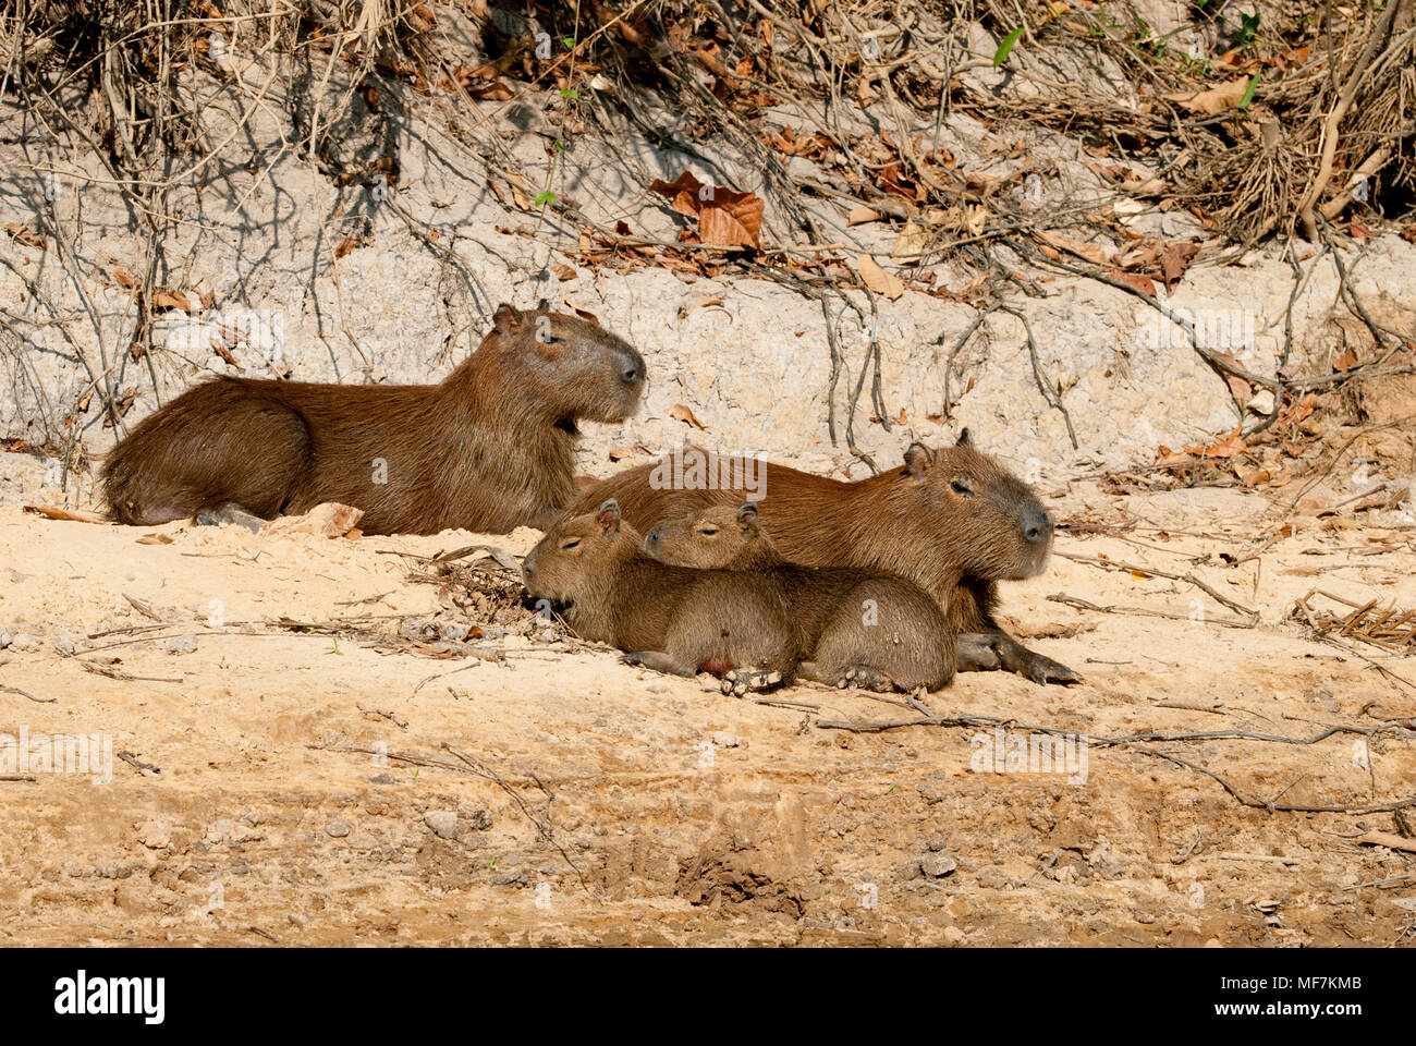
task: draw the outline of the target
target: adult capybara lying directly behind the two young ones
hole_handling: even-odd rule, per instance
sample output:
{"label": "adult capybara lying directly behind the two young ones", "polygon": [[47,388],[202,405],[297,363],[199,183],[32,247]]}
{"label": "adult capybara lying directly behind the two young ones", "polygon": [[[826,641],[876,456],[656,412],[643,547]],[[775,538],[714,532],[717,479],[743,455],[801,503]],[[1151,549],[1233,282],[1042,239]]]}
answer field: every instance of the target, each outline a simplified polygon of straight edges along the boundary
{"label": "adult capybara lying directly behind the two young ones", "polygon": [[[684,459],[690,454],[714,461],[697,448],[684,449]],[[1039,683],[1080,680],[994,621],[997,583],[1046,566],[1052,519],[1027,483],[973,446],[967,429],[954,446],[910,444],[903,468],[858,482],[756,459],[716,459],[716,469],[668,468],[666,461],[610,476],[568,512],[613,497],[633,526],[651,527],[753,497],[787,561],[896,574],[929,592],[949,618],[960,672],[1003,668]]]}

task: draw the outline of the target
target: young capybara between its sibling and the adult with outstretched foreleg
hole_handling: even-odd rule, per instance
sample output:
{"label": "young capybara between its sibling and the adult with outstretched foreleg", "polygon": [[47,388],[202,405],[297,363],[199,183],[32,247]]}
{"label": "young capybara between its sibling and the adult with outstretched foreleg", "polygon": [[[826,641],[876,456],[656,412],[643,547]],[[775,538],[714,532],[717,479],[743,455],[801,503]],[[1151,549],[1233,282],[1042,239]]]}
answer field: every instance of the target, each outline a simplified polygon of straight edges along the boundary
{"label": "young capybara between its sibling and the adult with outstretched foreleg", "polygon": [[854,567],[784,561],[762,530],[753,502],[664,520],[644,534],[644,551],[697,570],[760,570],[780,585],[809,658],[797,666],[803,679],[869,690],[939,690],[954,677],[949,619],[919,585]]}

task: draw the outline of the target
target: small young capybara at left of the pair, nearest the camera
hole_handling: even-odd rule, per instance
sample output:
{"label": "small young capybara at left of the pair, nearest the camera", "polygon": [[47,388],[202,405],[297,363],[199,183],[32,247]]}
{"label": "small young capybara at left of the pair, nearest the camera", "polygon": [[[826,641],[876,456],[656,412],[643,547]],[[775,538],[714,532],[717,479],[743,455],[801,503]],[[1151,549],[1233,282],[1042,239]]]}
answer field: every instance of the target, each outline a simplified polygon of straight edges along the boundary
{"label": "small young capybara at left of the pair, nearest the camera", "polygon": [[523,563],[532,598],[565,607],[585,639],[612,643],[656,672],[724,677],[724,690],[792,680],[796,632],[776,585],[758,571],[670,567],[607,500],[552,527]]}

